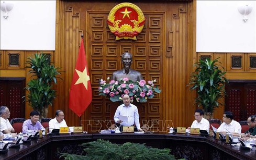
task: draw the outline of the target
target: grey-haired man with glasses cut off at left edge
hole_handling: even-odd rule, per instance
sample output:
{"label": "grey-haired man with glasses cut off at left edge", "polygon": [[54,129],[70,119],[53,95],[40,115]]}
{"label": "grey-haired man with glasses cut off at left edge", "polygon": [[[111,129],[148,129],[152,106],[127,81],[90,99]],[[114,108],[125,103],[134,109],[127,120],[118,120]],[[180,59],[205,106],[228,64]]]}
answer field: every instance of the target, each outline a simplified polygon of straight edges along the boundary
{"label": "grey-haired man with glasses cut off at left edge", "polygon": [[0,116],[0,131],[3,132],[4,134],[14,133],[15,130],[8,120],[8,118],[10,117],[10,111],[6,106],[0,107]]}

